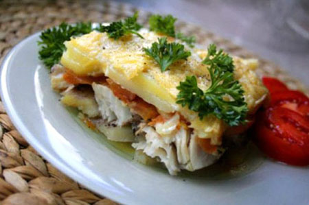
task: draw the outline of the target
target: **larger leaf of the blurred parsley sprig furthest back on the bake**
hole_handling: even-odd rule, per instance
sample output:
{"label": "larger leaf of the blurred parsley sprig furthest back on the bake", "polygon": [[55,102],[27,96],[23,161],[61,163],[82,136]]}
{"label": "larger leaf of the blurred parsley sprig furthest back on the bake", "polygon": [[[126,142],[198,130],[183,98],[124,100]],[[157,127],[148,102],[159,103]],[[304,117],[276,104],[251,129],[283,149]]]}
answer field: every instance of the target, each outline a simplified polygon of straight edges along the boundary
{"label": "larger leaf of the blurred parsley sprig furthest back on the bake", "polygon": [[159,14],[150,16],[149,27],[150,31],[165,34],[175,37],[174,23],[177,19],[172,15],[161,16]]}

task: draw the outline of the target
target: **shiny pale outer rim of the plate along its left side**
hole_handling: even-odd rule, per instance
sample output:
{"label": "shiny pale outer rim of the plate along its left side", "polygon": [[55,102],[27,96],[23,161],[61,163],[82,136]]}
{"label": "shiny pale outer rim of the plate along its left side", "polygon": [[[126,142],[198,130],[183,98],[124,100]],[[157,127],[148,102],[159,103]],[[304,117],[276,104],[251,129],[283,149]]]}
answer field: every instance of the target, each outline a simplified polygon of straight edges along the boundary
{"label": "shiny pale outer rim of the plate along its left side", "polygon": [[[5,58],[3,58],[3,62],[0,65],[1,100],[3,102],[3,106],[5,107],[6,113],[10,117],[12,123],[14,123],[16,130],[18,130],[21,133],[21,135],[27,140],[27,142],[30,145],[32,145],[32,147],[34,147],[34,149],[36,149],[43,158],[45,158],[48,162],[54,165],[54,167],[56,167],[59,171],[61,171],[62,173],[65,173],[65,175],[67,175],[69,178],[73,179],[74,181],[82,184],[84,187],[89,189],[89,191],[92,191],[93,193],[96,193],[97,195],[100,195],[102,197],[108,197],[109,199],[115,202],[118,202],[118,203],[122,203],[122,204],[143,204],[143,202],[146,202],[146,200],[142,200],[142,201],[137,200],[135,198],[135,195],[137,192],[120,195],[120,194],[114,193],[113,191],[110,191],[106,187],[98,186],[98,183],[95,183],[95,182],[89,183],[89,178],[86,178],[82,173],[75,171],[75,169],[72,169],[67,162],[62,161],[61,158],[58,158],[57,156],[53,156],[48,151],[48,149],[45,149],[45,145],[42,145],[42,143],[40,143],[36,139],[38,137],[32,134],[31,130],[27,128],[27,125],[23,123],[22,117],[19,117],[19,115],[16,114],[17,111],[14,109],[14,102],[12,101],[12,95],[10,95],[8,86],[6,86],[8,84],[8,79],[10,79],[8,78],[9,65],[10,65],[10,62],[14,62],[14,58],[12,58],[12,56],[14,56],[14,54],[18,52],[19,49],[21,49],[24,45],[27,45],[29,40],[32,40],[32,38],[38,38],[38,35],[41,34],[41,32],[36,32],[30,36],[27,36],[27,38],[24,38],[18,44],[16,44],[9,51],[9,53],[6,54]],[[36,56],[38,57],[38,55]],[[43,67],[43,69],[46,69],[46,67]],[[104,173],[102,173],[102,175],[104,175]],[[149,204],[154,203],[149,200],[147,201]]]}

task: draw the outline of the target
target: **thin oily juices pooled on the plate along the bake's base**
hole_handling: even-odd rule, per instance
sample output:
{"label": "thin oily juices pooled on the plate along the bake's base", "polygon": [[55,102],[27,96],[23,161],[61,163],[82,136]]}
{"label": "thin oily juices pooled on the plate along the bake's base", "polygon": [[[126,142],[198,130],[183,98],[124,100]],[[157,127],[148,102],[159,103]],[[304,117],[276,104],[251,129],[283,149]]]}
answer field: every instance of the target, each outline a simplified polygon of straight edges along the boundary
{"label": "thin oily juices pooled on the plate along the bake's base", "polygon": [[[67,108],[67,110],[69,110],[71,116],[89,133],[89,136],[93,137],[95,141],[104,144],[105,147],[108,147],[108,149],[111,149],[111,151],[120,156],[133,161],[135,149],[131,147],[130,143],[109,141],[104,134],[88,128],[87,125],[78,118],[78,110],[76,108]],[[194,172],[181,171],[178,177],[183,179],[205,178],[211,180],[227,180],[229,178],[236,178],[251,173],[255,169],[258,169],[263,161],[264,157],[258,148],[255,147],[253,143],[249,142],[247,145],[228,149],[214,165]],[[156,165],[146,167],[157,169],[157,171],[168,174],[167,169],[165,169],[165,167],[159,162]]]}

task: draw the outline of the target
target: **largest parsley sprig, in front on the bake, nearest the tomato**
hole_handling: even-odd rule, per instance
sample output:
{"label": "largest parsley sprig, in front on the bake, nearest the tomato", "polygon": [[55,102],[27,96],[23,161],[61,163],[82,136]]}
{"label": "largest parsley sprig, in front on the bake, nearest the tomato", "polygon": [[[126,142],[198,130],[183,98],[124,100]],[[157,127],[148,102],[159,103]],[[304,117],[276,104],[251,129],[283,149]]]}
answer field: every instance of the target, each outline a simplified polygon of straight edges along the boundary
{"label": "largest parsley sprig, in front on the bake, nearest the tomato", "polygon": [[209,65],[211,86],[202,91],[198,88],[196,77],[187,76],[177,86],[176,103],[198,112],[200,119],[214,114],[230,126],[246,123],[247,103],[242,95],[242,86],[233,79],[233,59],[221,49],[217,52],[216,45],[210,45],[203,63]]}

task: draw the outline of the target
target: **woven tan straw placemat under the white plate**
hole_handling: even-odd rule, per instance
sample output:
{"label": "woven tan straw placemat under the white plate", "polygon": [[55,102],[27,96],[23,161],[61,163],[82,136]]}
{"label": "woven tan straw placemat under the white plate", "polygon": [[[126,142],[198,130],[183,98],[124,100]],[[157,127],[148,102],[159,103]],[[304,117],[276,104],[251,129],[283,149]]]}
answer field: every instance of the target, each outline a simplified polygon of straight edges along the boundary
{"label": "woven tan straw placemat under the white plate", "polygon": [[[62,21],[108,22],[132,15],[136,8],[123,3],[98,1],[0,1],[0,62],[23,38],[59,25]],[[149,12],[139,10],[140,23],[146,24]],[[206,32],[196,25],[178,21],[177,29],[194,34],[198,43],[216,43],[244,58],[258,58],[229,40]],[[290,77],[277,65],[260,59],[260,75],[271,75],[290,88],[304,91],[304,84]],[[102,198],[58,171],[25,141],[5,113],[0,101],[0,200],[1,204],[115,204]]]}

